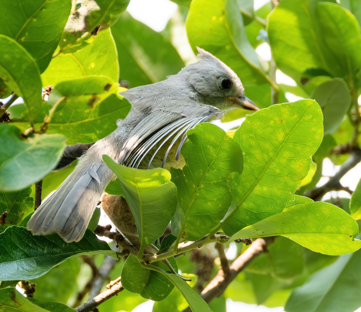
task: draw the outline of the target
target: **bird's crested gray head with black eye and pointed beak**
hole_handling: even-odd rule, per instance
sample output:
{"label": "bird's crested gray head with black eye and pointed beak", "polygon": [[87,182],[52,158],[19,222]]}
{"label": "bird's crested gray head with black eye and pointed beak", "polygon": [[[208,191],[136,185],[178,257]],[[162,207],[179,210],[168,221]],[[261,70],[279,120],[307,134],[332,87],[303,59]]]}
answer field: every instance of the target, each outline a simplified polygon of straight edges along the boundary
{"label": "bird's crested gray head with black eye and pointed beak", "polygon": [[223,111],[238,107],[259,110],[244,95],[242,82],[233,70],[209,52],[198,47],[197,50],[199,61],[187,65],[179,72],[185,78],[195,100]]}

